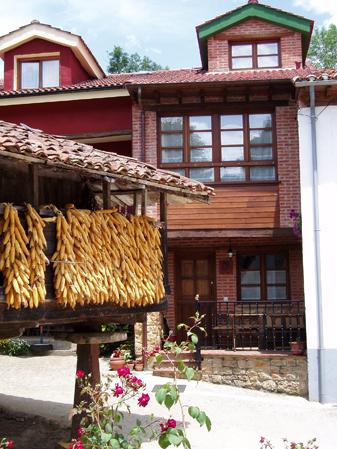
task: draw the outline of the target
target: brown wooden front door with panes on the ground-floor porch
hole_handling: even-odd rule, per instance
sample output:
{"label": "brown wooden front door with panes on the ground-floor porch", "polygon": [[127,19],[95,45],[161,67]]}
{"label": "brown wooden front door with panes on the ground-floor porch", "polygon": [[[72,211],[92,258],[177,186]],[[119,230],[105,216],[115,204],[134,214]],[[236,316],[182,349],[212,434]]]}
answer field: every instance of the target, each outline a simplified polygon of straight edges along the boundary
{"label": "brown wooden front door with panes on the ground-floor porch", "polygon": [[[176,317],[177,324],[191,324],[195,314],[195,297],[199,295],[201,314],[206,314],[204,325],[207,337],[203,346],[210,346],[212,340],[211,321],[216,301],[215,256],[213,254],[184,254],[176,259]],[[178,339],[185,338],[178,332]]]}

